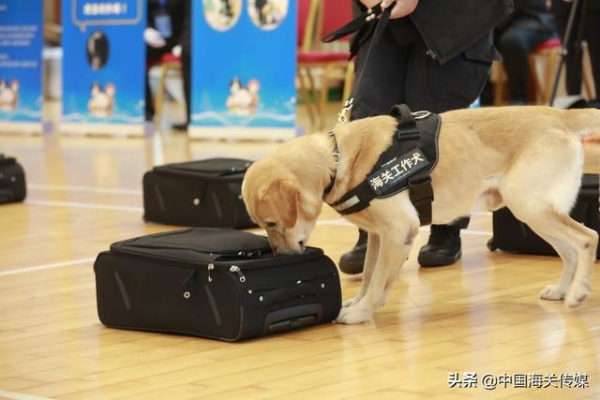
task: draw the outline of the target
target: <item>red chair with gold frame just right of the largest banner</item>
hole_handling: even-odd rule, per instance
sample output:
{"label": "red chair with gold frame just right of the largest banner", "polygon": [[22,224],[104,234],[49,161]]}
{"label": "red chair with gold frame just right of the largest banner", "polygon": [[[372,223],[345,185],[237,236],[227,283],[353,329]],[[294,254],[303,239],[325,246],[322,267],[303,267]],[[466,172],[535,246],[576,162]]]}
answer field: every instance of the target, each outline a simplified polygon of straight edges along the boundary
{"label": "red chair with gold frame just right of the largest banner", "polygon": [[344,81],[348,72],[349,37],[330,44],[321,43],[320,38],[352,19],[352,4],[339,0],[299,0],[298,5],[298,83],[311,123],[322,130],[329,87],[332,81]]}

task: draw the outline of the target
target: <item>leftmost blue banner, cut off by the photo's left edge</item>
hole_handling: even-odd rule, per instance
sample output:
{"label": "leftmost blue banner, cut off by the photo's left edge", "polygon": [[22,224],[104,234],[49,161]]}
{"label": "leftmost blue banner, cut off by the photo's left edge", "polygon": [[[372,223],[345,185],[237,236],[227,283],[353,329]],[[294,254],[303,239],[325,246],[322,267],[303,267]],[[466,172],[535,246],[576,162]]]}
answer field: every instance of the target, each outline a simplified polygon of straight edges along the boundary
{"label": "leftmost blue banner, cut off by the photo's left edge", "polygon": [[42,121],[43,0],[0,0],[0,121]]}

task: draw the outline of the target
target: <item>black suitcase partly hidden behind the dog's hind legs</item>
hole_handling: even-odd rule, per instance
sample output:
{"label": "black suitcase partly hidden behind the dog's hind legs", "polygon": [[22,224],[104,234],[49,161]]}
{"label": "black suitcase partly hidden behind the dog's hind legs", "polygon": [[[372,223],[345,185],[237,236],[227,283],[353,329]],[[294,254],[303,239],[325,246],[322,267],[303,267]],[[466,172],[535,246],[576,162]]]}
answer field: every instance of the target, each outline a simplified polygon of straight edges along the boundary
{"label": "black suitcase partly hidden behind the dog's hind legs", "polygon": [[[584,174],[577,202],[571,210],[571,217],[588,228],[600,233],[599,180],[597,174]],[[536,235],[526,224],[519,221],[508,208],[492,214],[493,237],[488,248],[525,254],[553,255],[556,252],[546,241]],[[600,246],[597,250],[600,259]]]}

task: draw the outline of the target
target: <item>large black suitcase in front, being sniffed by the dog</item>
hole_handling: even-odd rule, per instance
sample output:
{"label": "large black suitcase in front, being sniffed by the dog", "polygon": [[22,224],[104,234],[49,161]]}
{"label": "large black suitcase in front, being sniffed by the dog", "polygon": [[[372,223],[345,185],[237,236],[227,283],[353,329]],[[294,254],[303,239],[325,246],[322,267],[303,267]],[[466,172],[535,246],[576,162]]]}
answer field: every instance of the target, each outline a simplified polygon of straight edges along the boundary
{"label": "large black suitcase in front, being sniffed by the dog", "polygon": [[94,263],[112,328],[238,341],[330,322],[341,308],[323,251],[275,257],[264,236],[189,228],[113,243]]}

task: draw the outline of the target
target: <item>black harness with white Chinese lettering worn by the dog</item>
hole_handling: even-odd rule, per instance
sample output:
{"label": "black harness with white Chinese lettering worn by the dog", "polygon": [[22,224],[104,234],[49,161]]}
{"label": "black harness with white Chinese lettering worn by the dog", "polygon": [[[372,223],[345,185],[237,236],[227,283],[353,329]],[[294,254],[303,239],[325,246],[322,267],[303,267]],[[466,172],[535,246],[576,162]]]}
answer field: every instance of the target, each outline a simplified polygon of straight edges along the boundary
{"label": "black harness with white Chinese lettering worn by the dog", "polygon": [[[390,115],[398,120],[390,147],[362,183],[329,205],[342,215],[352,214],[367,208],[375,198],[390,197],[408,189],[421,225],[429,225],[433,202],[430,173],[438,160],[440,117],[429,111],[412,113],[404,104],[394,106]],[[333,188],[333,179],[335,175],[325,195]]]}

